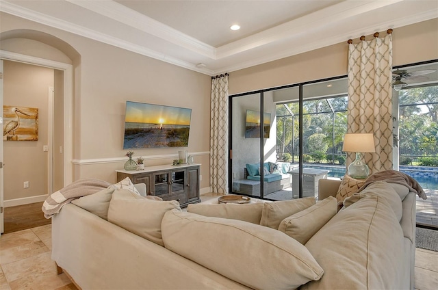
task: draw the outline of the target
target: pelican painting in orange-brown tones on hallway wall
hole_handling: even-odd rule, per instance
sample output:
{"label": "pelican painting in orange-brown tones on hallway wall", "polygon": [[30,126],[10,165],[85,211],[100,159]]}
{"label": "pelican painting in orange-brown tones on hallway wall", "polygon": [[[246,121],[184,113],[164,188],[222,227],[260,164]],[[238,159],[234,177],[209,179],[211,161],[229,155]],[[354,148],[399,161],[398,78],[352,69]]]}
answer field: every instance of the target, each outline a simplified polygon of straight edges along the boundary
{"label": "pelican painting in orange-brown tones on hallway wall", "polygon": [[38,141],[38,108],[3,106],[3,141]]}

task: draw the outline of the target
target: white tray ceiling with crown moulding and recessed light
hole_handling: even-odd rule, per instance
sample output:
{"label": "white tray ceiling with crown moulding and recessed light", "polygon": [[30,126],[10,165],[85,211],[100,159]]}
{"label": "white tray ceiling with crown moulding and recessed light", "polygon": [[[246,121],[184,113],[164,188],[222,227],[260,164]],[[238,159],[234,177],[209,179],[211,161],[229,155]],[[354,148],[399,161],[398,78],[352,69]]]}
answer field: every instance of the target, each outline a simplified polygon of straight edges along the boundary
{"label": "white tray ceiling with crown moulding and recessed light", "polygon": [[438,1],[0,0],[0,11],[217,75],[438,18]]}

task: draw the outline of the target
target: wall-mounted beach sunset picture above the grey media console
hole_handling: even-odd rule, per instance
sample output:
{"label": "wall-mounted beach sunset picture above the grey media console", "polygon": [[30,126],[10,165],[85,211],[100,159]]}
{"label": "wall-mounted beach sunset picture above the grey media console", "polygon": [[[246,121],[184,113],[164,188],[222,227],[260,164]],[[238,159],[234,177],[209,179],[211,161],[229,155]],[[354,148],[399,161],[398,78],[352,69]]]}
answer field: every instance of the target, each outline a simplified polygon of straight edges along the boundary
{"label": "wall-mounted beach sunset picture above the grey media console", "polygon": [[192,109],[126,102],[124,149],[187,147]]}

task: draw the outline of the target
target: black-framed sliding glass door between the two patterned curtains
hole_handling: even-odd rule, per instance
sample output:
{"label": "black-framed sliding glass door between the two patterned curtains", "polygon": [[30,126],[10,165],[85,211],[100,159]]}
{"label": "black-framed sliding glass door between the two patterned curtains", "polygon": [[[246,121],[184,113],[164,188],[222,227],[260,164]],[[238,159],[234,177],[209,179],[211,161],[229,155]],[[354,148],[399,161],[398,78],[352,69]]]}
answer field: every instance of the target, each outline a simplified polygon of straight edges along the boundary
{"label": "black-framed sliding glass door between the two patterned curtains", "polygon": [[231,96],[230,192],[318,197],[318,180],[345,174],[346,78]]}

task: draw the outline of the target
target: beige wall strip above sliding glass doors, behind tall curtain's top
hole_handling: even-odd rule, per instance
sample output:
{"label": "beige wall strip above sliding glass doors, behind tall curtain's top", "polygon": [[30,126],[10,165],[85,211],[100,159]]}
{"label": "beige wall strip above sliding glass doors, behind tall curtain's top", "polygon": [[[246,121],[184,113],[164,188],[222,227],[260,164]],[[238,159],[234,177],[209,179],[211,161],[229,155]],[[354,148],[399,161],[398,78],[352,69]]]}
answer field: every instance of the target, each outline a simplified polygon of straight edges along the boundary
{"label": "beige wall strip above sliding glass doors, behind tall curtain's top", "polygon": [[[381,36],[385,34],[383,31]],[[366,39],[371,38],[372,36],[367,36]],[[437,60],[438,18],[396,28],[392,33],[392,40],[394,66]],[[229,75],[229,93],[238,94],[346,75],[347,54],[346,40],[330,47],[237,70]]]}

